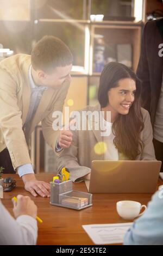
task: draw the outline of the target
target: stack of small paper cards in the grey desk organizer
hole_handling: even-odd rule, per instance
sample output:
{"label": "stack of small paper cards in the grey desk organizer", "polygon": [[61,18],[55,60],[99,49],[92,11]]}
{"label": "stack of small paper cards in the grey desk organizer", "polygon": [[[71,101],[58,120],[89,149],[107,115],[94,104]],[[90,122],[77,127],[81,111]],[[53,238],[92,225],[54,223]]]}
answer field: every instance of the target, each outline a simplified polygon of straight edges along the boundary
{"label": "stack of small paper cards in the grey desk organizer", "polygon": [[85,197],[69,197],[62,199],[61,204],[64,204],[67,207],[81,208],[89,204],[88,198]]}

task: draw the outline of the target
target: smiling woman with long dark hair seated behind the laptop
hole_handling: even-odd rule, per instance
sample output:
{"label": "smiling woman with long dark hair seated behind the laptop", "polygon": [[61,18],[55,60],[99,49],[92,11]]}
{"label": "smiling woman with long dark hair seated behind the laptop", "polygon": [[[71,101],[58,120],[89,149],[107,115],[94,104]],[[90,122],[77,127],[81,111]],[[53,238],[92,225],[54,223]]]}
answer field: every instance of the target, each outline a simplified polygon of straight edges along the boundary
{"label": "smiling woman with long dark hair seated behind the laptop", "polygon": [[[151,120],[141,107],[140,95],[141,81],[131,69],[120,63],[107,64],[99,81],[99,103],[79,111],[103,112],[102,118],[88,115],[84,118],[87,130],[83,120],[81,130],[71,130],[73,140],[59,155],[58,170],[66,167],[73,181],[82,181],[90,179],[94,160],[155,160]],[[101,120],[109,134],[102,133]]]}

